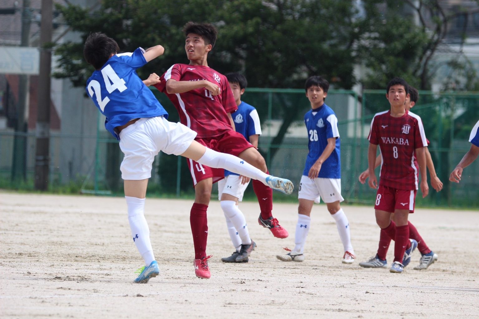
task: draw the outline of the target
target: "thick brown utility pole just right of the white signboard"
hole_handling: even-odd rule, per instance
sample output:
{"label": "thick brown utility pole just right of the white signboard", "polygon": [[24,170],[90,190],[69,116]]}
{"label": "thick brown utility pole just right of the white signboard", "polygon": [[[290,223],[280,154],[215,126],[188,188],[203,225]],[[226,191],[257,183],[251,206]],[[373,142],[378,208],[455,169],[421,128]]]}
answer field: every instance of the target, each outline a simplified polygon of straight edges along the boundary
{"label": "thick brown utility pole just right of the white signboard", "polygon": [[38,112],[36,118],[35,189],[48,188],[50,162],[50,73],[52,65],[52,0],[42,0],[40,22],[40,75],[38,77]]}

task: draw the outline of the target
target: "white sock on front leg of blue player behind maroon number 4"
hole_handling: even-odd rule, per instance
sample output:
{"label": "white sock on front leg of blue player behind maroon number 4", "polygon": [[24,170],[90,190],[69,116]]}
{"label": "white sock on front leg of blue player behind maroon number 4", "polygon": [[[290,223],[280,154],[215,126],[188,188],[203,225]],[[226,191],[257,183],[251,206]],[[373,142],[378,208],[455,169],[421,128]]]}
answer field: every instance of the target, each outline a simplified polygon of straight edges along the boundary
{"label": "white sock on front leg of blue player behind maroon number 4", "polygon": [[[241,244],[251,244],[250,233],[248,231],[248,226],[246,226],[246,219],[244,218],[243,213],[239,210],[238,206],[236,205],[235,201],[221,201],[220,202],[221,209],[223,209],[223,213],[226,217],[226,223],[228,225],[228,232],[233,245],[238,250],[238,246]],[[233,232],[230,231],[228,221],[234,227],[234,236],[232,236]],[[238,237],[240,239],[239,245]]]}

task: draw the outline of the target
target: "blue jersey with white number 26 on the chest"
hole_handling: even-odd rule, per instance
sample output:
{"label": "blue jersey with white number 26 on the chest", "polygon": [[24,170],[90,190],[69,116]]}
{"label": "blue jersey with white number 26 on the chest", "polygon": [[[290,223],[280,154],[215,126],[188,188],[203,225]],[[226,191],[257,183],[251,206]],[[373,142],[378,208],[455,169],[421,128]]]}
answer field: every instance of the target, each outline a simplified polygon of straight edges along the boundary
{"label": "blue jersey with white number 26 on the chest", "polygon": [[[315,114],[313,114],[315,113]],[[304,115],[304,123],[308,130],[308,157],[303,175],[308,176],[311,166],[319,159],[328,145],[328,138],[336,137],[336,147],[324,161],[319,170],[320,178],[341,178],[340,140],[338,118],[331,108],[323,104],[315,110],[309,110]]]}

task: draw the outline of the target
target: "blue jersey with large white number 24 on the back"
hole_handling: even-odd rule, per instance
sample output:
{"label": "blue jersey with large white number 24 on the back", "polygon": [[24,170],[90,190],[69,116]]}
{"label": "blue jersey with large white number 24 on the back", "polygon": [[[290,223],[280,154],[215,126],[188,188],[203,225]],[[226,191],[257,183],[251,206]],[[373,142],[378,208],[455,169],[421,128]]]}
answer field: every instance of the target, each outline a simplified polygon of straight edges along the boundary
{"label": "blue jersey with large white number 24 on the back", "polygon": [[144,53],[145,50],[139,47],[133,53],[114,55],[87,80],[87,93],[106,116],[105,128],[117,139],[120,138],[114,128],[134,118],[168,117],[163,106],[137,75],[136,69],[147,63]]}

